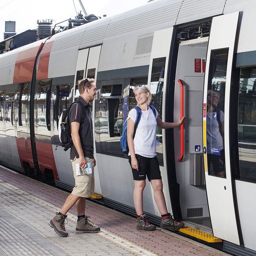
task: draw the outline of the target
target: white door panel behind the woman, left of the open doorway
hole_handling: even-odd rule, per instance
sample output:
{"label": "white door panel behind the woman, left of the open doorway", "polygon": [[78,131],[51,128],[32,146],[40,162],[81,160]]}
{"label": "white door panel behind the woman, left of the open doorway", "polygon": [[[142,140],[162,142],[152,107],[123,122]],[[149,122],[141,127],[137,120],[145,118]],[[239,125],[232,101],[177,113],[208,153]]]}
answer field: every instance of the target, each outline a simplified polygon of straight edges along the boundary
{"label": "white door panel behind the woman, left of the open doorway", "polygon": [[[152,44],[152,51],[150,55],[150,66],[148,73],[148,86],[152,93],[152,105],[155,106],[159,117],[165,121],[165,103],[166,99],[166,77],[168,70],[168,61],[170,53],[170,44],[172,40],[173,27],[155,31]],[[163,181],[163,192],[165,194],[166,205],[169,212],[172,211],[170,200],[168,174],[166,165],[166,144],[165,144],[165,130],[157,127],[157,159],[159,161],[161,176]],[[152,197],[153,190],[152,191]],[[154,201],[155,213],[159,213],[157,205]]]}

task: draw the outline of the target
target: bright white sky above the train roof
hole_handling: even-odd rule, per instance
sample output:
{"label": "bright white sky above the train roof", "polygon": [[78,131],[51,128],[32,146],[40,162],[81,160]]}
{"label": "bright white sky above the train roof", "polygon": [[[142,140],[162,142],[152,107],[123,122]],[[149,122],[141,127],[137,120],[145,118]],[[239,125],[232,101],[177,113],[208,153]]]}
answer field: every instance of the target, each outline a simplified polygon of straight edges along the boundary
{"label": "bright white sky above the train roof", "polygon": [[[88,15],[108,16],[128,11],[148,0],[82,0]],[[75,10],[76,9],[76,10]],[[1,0],[0,41],[4,38],[5,21],[16,22],[16,33],[37,28],[37,20],[52,19],[53,25],[68,18],[75,18],[82,11],[78,0]],[[83,12],[82,12],[83,13]],[[68,22],[63,24],[68,26]]]}

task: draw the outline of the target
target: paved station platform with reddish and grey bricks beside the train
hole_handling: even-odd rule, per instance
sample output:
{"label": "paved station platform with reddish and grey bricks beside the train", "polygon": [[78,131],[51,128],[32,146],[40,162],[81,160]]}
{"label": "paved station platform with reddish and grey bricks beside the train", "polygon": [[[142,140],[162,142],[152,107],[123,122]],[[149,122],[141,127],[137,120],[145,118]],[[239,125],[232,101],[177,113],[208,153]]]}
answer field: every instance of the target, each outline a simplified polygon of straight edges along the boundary
{"label": "paved station platform with reddish and grey bricks beside the train", "polygon": [[69,236],[60,237],[48,223],[68,194],[0,167],[0,256],[229,255],[168,230],[136,230],[135,218],[91,201],[86,215],[101,232],[76,234],[73,207],[65,225]]}

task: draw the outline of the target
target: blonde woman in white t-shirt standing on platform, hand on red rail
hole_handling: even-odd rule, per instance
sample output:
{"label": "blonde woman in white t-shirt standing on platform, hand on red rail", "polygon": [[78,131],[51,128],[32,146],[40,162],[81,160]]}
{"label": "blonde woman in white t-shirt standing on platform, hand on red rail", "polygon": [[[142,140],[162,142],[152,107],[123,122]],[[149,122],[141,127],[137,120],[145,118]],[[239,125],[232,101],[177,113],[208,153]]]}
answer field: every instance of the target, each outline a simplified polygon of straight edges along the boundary
{"label": "blonde woman in white t-shirt standing on platform, hand on red rail", "polygon": [[155,230],[155,226],[146,220],[146,214],[143,212],[143,190],[147,176],[154,190],[155,203],[162,217],[161,228],[178,230],[184,226],[184,223],[175,221],[167,211],[162,177],[156,157],[156,128],[159,126],[162,129],[168,129],[179,126],[184,117],[179,118],[177,123],[163,122],[157,111],[154,114],[153,110],[148,107],[152,100],[148,87],[140,84],[134,88],[133,92],[137,106],[141,109],[141,119],[134,139],[133,131],[137,115],[134,108],[129,112],[127,121],[128,155],[134,179],[133,202],[137,213],[137,229]]}

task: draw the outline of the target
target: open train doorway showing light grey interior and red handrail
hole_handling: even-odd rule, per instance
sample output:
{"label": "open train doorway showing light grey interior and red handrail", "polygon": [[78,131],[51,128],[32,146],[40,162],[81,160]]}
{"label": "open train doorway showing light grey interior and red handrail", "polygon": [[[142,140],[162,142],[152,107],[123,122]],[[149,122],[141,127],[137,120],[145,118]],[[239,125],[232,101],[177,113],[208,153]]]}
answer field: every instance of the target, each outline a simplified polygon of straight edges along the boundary
{"label": "open train doorway showing light grey interior and red handrail", "polygon": [[[183,101],[185,139],[181,141],[180,128],[174,129],[174,154],[182,219],[188,226],[209,233],[211,223],[203,170],[202,140],[203,81],[207,44],[208,37],[181,41],[179,44],[174,90],[174,121],[181,115]],[[181,86],[184,90],[183,99]],[[181,144],[184,146],[183,154]]]}

